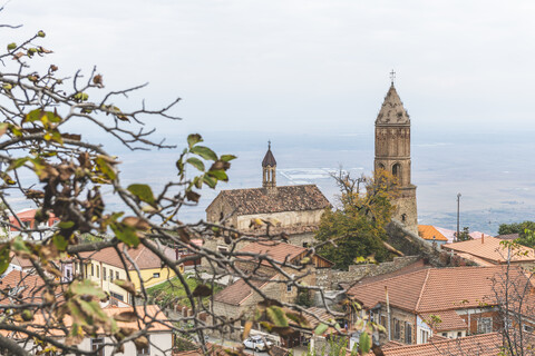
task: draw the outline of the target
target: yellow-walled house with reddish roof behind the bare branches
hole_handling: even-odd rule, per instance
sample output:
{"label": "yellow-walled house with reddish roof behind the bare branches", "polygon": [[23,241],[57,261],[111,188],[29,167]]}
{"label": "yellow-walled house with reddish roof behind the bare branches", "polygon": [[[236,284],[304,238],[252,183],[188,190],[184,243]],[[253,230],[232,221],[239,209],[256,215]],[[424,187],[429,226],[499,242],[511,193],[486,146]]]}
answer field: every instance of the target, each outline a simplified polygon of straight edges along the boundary
{"label": "yellow-walled house with reddish roof behind the bare branches", "polygon": [[[123,250],[124,245],[119,244],[118,249]],[[82,263],[75,264],[75,274],[81,274],[84,278],[95,281],[103,290],[118,300],[132,304],[132,296],[125,289],[114,284],[114,279],[129,279],[134,283],[136,290],[140,290],[139,278],[145,287],[150,287],[171,279],[175,273],[168,268],[162,268],[162,260],[147,247],[139,245],[137,248],[128,248],[127,253],[132,260],[123,260],[115,248],[108,247],[97,251],[81,253]],[[176,251],[164,247],[164,254],[175,260]],[[126,266],[125,266],[126,265]],[[138,275],[136,266],[139,269]],[[128,277],[127,277],[128,275]]]}

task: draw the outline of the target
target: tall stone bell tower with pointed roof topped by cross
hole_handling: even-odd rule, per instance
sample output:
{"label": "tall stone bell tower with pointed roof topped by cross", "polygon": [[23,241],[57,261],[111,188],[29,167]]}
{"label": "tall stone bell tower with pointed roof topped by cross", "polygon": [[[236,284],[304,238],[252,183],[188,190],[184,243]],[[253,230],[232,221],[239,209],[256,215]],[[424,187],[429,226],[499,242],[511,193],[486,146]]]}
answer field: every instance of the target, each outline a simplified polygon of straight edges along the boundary
{"label": "tall stone bell tower with pointed roof topped by cross", "polygon": [[374,170],[383,169],[398,179],[399,197],[393,201],[393,218],[418,235],[416,186],[410,182],[410,119],[393,86],[385,97],[376,120]]}

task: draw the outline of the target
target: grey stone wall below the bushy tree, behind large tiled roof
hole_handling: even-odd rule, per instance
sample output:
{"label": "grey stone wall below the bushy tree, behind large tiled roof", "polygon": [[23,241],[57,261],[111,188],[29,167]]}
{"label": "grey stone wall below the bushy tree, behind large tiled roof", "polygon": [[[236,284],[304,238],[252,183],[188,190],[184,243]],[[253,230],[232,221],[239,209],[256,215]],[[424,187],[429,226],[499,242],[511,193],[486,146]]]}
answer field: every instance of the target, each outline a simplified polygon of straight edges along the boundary
{"label": "grey stone wall below the bushy tree, behind large tiled roof", "polygon": [[420,259],[420,256],[396,257],[392,261],[378,265],[352,265],[349,270],[318,269],[317,285],[324,289],[338,289],[340,283],[353,283],[364,276],[373,277],[389,274]]}

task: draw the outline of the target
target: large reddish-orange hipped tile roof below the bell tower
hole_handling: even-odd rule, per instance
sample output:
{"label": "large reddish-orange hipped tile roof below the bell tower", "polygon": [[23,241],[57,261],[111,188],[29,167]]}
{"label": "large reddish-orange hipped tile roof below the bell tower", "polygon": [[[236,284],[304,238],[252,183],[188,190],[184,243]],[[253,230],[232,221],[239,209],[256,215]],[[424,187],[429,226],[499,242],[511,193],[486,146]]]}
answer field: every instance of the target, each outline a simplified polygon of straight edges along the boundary
{"label": "large reddish-orange hipped tile roof below the bell tower", "polygon": [[478,307],[480,303],[494,303],[490,279],[502,270],[500,266],[429,268],[356,285],[348,290],[348,296],[372,308],[386,303],[387,286],[390,305],[412,313]]}

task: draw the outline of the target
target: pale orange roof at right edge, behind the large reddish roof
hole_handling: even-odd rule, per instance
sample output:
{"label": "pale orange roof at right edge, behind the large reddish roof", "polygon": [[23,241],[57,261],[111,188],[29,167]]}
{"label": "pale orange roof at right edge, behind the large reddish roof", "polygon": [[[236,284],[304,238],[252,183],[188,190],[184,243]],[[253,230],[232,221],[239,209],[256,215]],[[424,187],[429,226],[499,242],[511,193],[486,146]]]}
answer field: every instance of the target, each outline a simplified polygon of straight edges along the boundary
{"label": "pale orange roof at right edge, behind the large reddish roof", "polygon": [[[484,236],[479,239],[446,244],[441,248],[480,266],[504,265],[507,263],[509,250],[502,241],[496,237]],[[535,249],[517,247],[510,251],[510,263],[528,268],[534,267]]]}

